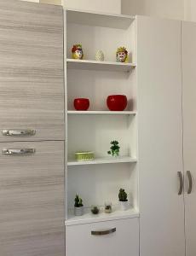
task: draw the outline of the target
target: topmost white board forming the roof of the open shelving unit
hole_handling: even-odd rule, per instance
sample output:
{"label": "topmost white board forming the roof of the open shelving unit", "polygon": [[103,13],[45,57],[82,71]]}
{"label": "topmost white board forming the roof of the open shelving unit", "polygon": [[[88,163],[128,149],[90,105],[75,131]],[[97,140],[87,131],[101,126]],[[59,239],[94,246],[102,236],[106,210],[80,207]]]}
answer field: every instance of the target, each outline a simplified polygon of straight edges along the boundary
{"label": "topmost white board forming the roof of the open shelving unit", "polygon": [[112,15],[76,9],[66,9],[66,20],[68,23],[87,26],[103,26],[125,30],[129,28],[130,24],[135,20],[135,16]]}

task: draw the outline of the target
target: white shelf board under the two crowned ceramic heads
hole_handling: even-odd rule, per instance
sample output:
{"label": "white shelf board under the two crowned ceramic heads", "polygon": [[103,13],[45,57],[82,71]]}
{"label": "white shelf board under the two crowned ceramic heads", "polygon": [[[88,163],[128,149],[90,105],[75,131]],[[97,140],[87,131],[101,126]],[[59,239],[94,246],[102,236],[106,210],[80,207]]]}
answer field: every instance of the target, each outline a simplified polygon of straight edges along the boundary
{"label": "white shelf board under the two crowned ceramic heads", "polygon": [[98,71],[115,71],[115,72],[130,72],[136,67],[135,63],[121,63],[112,61],[89,61],[66,59],[67,68],[83,69],[83,70],[98,70]]}

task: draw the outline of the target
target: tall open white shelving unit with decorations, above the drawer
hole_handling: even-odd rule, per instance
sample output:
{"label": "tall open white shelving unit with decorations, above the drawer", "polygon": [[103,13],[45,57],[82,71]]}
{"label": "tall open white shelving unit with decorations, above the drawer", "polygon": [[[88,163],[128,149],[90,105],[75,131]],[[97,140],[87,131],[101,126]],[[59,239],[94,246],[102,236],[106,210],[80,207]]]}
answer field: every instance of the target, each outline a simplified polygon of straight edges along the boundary
{"label": "tall open white shelving unit with decorations, above the drawer", "polygon": [[[66,10],[66,225],[138,218],[137,209],[137,90],[135,17]],[[82,44],[84,60],[72,59],[72,45]],[[116,50],[125,46],[128,63],[116,62]],[[105,61],[95,61],[101,49]],[[122,111],[107,109],[107,96],[124,94],[128,106]],[[88,111],[76,111],[73,100],[89,98]],[[110,142],[118,140],[119,158],[108,156]],[[95,160],[74,160],[77,151],[93,151]],[[89,212],[91,205],[118,204],[124,188],[132,208],[110,214]],[[87,209],[83,216],[72,213],[78,194]]]}

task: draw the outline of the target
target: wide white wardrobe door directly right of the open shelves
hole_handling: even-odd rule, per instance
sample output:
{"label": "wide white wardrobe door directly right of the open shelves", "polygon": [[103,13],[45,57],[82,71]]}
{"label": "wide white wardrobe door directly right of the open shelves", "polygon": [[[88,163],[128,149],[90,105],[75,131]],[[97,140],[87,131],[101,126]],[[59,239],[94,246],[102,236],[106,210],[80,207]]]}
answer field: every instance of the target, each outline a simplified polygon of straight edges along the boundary
{"label": "wide white wardrobe door directly right of the open shelves", "polygon": [[141,256],[184,256],[181,22],[137,19]]}

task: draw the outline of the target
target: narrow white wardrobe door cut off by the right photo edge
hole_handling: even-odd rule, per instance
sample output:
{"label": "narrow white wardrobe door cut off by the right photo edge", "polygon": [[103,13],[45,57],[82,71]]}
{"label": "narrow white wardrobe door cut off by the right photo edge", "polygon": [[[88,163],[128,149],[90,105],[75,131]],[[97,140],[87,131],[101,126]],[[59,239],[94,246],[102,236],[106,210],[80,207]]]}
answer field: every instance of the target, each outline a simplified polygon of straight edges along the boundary
{"label": "narrow white wardrobe door cut off by the right photo edge", "polygon": [[[182,22],[182,84],[187,256],[196,255],[196,24]],[[187,171],[193,178],[189,188]]]}

